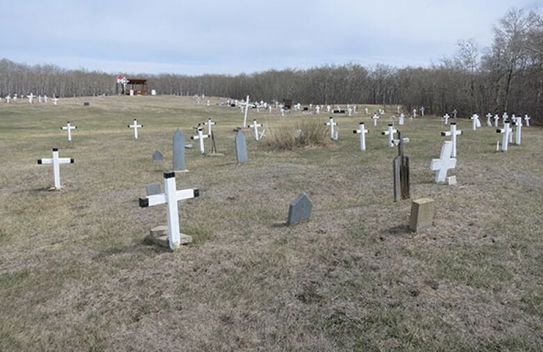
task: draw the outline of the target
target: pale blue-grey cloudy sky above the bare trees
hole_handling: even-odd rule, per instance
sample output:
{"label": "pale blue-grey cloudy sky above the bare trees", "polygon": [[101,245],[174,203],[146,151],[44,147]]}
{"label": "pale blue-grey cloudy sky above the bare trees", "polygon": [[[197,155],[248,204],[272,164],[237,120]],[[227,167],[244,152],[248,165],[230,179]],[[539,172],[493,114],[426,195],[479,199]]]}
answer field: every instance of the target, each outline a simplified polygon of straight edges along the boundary
{"label": "pale blue-grey cloudy sky above the bare trees", "polygon": [[512,7],[543,0],[8,1],[0,58],[112,73],[429,65],[460,39],[490,45]]}

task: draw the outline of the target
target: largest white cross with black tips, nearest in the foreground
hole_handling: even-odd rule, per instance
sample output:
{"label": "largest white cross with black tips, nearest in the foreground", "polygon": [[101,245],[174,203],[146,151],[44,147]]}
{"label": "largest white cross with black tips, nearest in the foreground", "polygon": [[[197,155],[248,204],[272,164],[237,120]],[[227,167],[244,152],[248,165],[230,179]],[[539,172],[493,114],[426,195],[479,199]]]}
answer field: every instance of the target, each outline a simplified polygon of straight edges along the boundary
{"label": "largest white cross with black tips, nearest in the foreground", "polygon": [[196,198],[200,195],[198,189],[183,189],[178,191],[175,186],[175,173],[164,173],[164,193],[148,195],[139,198],[140,207],[152,207],[166,204],[168,214],[168,242],[171,249],[179,248],[181,243],[192,242],[192,237],[180,234],[178,201]]}

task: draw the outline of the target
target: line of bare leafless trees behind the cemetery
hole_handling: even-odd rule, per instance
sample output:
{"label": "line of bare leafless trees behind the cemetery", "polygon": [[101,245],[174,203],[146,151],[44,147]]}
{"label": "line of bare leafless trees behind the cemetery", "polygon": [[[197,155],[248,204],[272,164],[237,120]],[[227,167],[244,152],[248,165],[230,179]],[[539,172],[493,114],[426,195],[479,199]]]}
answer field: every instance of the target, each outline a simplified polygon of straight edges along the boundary
{"label": "line of bare leafless trees behind the cemetery", "polygon": [[[65,70],[55,65],[0,61],[0,96],[17,94],[114,95],[116,74]],[[302,104],[400,104],[425,106],[431,113],[457,109],[472,113],[528,113],[543,123],[543,17],[538,11],[508,11],[494,26],[491,47],[473,40],[430,67],[363,67],[354,63],[306,70],[253,74],[131,74],[145,77],[159,94],[201,95],[251,100],[292,99]]]}

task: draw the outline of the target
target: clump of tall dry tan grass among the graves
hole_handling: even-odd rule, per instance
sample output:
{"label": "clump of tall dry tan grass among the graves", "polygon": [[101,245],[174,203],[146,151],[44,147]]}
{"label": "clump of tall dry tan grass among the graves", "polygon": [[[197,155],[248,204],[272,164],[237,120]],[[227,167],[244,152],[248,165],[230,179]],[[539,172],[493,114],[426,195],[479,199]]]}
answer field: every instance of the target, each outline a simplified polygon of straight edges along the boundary
{"label": "clump of tall dry tan grass among the graves", "polygon": [[281,125],[269,131],[267,145],[279,150],[294,150],[294,148],[331,143],[327,136],[326,125],[322,121],[304,119],[295,125]]}

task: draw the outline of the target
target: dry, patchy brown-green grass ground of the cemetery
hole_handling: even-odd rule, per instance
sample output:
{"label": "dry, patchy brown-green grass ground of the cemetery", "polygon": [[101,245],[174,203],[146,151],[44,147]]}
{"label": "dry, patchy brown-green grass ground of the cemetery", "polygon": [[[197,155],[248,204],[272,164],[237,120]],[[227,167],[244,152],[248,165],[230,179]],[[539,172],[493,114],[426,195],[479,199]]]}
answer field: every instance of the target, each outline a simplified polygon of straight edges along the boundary
{"label": "dry, patchy brown-green grass ground of the cemetery", "polygon": [[[373,126],[378,106],[336,115],[339,140],[326,146],[276,150],[247,130],[249,162],[237,166],[243,115],[210,99],[0,104],[0,351],[543,349],[540,127],[496,152],[501,134],[486,118],[475,132],[457,119],[458,184],[446,186],[430,161],[448,126],[435,116],[396,126],[410,138],[411,198],[436,205],[434,225],[413,233],[411,201],[393,202],[397,148],[381,136],[388,113]],[[269,134],[329,116],[251,109],[248,122]],[[223,156],[189,138],[207,118]],[[365,152],[352,133],[361,121]],[[194,242],[173,253],[145,241],[166,207],[138,198],[172,168],[178,127],[194,148],[177,188],[200,196],[179,202]],[[48,191],[52,166],[36,163],[52,147],[75,159],[61,165],[62,191]],[[155,150],[164,162],[152,162]],[[312,218],[285,226],[301,191]]]}

